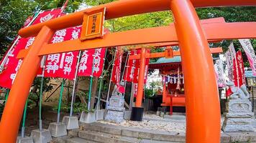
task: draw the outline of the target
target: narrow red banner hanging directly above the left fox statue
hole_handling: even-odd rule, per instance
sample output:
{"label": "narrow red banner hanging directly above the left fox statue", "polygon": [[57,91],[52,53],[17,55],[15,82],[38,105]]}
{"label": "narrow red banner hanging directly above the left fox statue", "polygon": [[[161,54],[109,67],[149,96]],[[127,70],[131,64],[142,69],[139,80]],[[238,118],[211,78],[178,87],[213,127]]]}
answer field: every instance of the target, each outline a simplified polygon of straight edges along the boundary
{"label": "narrow red banner hanging directly above the left fox statue", "polygon": [[114,59],[111,82],[116,83],[117,87],[119,87],[120,77],[121,77],[122,58],[123,58],[123,51],[121,47],[116,48],[115,57],[116,58]]}

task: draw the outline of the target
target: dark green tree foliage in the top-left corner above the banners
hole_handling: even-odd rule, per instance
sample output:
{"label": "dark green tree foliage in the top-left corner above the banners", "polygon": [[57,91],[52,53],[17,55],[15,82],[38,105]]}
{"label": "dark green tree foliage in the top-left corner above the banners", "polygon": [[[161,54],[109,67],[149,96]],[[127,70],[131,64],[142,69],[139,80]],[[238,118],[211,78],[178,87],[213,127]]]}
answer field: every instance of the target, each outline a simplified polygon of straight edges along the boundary
{"label": "dark green tree foliage in the top-left corner above the banners", "polygon": [[[70,0],[66,12],[78,9],[83,0]],[[0,55],[3,56],[8,46],[17,36],[28,16],[35,11],[63,6],[65,0],[1,0],[0,1]],[[0,57],[1,57],[0,56]]]}

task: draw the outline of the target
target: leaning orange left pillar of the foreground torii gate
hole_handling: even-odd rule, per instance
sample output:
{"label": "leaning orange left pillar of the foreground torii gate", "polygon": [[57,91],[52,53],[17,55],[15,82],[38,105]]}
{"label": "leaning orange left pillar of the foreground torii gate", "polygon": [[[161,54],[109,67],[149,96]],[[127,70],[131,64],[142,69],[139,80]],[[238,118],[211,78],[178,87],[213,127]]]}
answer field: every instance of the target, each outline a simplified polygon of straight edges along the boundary
{"label": "leaning orange left pillar of the foreground torii gate", "polygon": [[37,69],[42,59],[42,56],[38,56],[38,53],[42,46],[50,41],[53,34],[54,31],[52,29],[43,26],[39,34],[37,34],[34,43],[29,47],[27,56],[22,61],[22,66],[19,68],[17,77],[14,80],[8,102],[6,107],[4,107],[4,113],[1,117],[0,142],[16,142],[24,104],[29,96],[29,89],[37,75]]}

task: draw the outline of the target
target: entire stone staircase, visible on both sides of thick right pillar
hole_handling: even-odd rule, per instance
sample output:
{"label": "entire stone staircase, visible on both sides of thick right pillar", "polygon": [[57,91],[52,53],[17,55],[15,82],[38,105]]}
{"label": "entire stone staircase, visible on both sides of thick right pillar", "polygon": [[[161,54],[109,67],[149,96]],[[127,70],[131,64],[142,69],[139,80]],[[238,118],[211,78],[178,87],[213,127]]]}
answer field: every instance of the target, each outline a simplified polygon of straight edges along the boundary
{"label": "entire stone staircase, visible on both sides of thick right pillar", "polygon": [[[181,143],[184,133],[163,132],[137,127],[122,127],[99,122],[80,124],[81,129],[68,131],[68,136],[54,139],[54,143]],[[256,142],[256,132],[221,132],[221,143]]]}

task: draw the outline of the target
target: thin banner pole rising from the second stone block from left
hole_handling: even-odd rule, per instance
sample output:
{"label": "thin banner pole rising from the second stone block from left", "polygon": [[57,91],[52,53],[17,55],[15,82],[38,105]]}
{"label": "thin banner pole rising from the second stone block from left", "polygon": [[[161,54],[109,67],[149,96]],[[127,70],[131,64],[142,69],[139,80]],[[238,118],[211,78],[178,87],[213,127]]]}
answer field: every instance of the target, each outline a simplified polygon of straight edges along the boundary
{"label": "thin banner pole rising from the second stone block from left", "polygon": [[40,99],[39,99],[39,129],[42,131],[42,88],[44,85],[45,78],[45,60],[46,56],[43,56],[44,66],[42,67],[42,77],[41,77],[41,85],[40,85]]}

